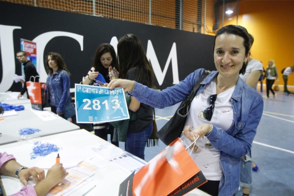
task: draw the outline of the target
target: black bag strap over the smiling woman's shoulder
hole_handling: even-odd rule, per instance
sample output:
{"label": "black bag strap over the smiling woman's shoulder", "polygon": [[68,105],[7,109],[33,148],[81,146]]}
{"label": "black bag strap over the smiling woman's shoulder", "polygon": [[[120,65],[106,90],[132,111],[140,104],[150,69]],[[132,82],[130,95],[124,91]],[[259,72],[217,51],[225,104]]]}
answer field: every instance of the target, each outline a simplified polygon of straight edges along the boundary
{"label": "black bag strap over the smiling woman's shoulder", "polygon": [[211,71],[205,70],[205,72],[203,73],[202,77],[200,78],[200,80],[197,82],[197,84],[194,86],[193,90],[191,91],[190,95],[183,100],[182,103],[182,107],[180,107],[178,109],[178,115],[180,117],[186,117],[188,115],[189,109],[190,109],[190,105],[192,100],[194,99],[195,95],[197,94],[197,91],[200,87],[200,83],[203,81],[204,78],[206,78],[209,74],[211,73]]}

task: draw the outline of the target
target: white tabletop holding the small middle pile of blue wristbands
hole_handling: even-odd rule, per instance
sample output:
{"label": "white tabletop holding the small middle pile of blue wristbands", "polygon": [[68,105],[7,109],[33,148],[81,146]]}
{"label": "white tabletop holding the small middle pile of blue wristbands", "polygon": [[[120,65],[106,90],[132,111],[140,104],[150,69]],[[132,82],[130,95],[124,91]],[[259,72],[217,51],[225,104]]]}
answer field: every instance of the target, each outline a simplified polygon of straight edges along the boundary
{"label": "white tabletop holding the small middle pile of blue wristbands", "polygon": [[41,129],[40,132],[27,135],[26,137],[42,137],[80,129],[79,126],[53,113],[52,114],[56,116],[56,119],[43,121],[32,111],[32,109],[29,109],[30,104],[24,105],[26,109],[17,111],[19,115],[4,117],[4,120],[0,121],[0,132],[2,133],[2,136],[0,137],[0,145],[16,142],[21,139],[21,136],[17,132],[24,127]]}

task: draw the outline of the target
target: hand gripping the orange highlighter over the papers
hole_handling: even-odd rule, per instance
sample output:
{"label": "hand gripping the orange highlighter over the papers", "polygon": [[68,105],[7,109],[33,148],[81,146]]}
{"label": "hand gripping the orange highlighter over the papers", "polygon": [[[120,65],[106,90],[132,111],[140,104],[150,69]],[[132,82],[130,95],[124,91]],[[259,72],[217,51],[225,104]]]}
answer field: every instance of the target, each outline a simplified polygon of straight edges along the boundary
{"label": "hand gripping the orange highlighter over the papers", "polygon": [[59,184],[69,172],[66,172],[62,163],[58,163],[53,165],[47,172],[46,181],[54,187],[55,185]]}

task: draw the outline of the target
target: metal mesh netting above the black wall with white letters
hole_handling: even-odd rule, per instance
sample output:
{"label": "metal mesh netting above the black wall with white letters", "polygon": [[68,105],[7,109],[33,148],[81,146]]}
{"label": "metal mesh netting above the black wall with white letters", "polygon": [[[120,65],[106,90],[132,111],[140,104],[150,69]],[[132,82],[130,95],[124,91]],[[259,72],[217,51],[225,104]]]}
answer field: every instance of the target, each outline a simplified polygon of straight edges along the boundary
{"label": "metal mesh netting above the black wall with white letters", "polygon": [[[221,0],[1,0],[111,19],[214,34],[236,17],[223,14],[235,1]],[[225,9],[223,9],[223,6]]]}

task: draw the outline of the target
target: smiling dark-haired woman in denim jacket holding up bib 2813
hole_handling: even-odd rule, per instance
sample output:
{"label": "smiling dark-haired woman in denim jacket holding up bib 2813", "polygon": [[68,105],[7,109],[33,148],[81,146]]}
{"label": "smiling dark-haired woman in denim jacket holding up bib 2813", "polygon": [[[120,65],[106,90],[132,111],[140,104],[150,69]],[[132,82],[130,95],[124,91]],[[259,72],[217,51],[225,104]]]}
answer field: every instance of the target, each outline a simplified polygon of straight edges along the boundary
{"label": "smiling dark-haired woman in denim jacket holding up bib 2813", "polygon": [[[184,145],[199,136],[198,149],[192,149],[191,157],[208,180],[199,189],[211,195],[235,195],[238,191],[240,158],[251,149],[262,116],[263,97],[239,77],[245,73],[249,49],[244,27],[228,25],[217,31],[213,44],[217,71],[200,83],[186,119],[183,134],[188,139]],[[163,91],[122,79],[112,80],[108,87],[123,87],[139,102],[164,108],[186,99],[204,71],[197,69]]]}

